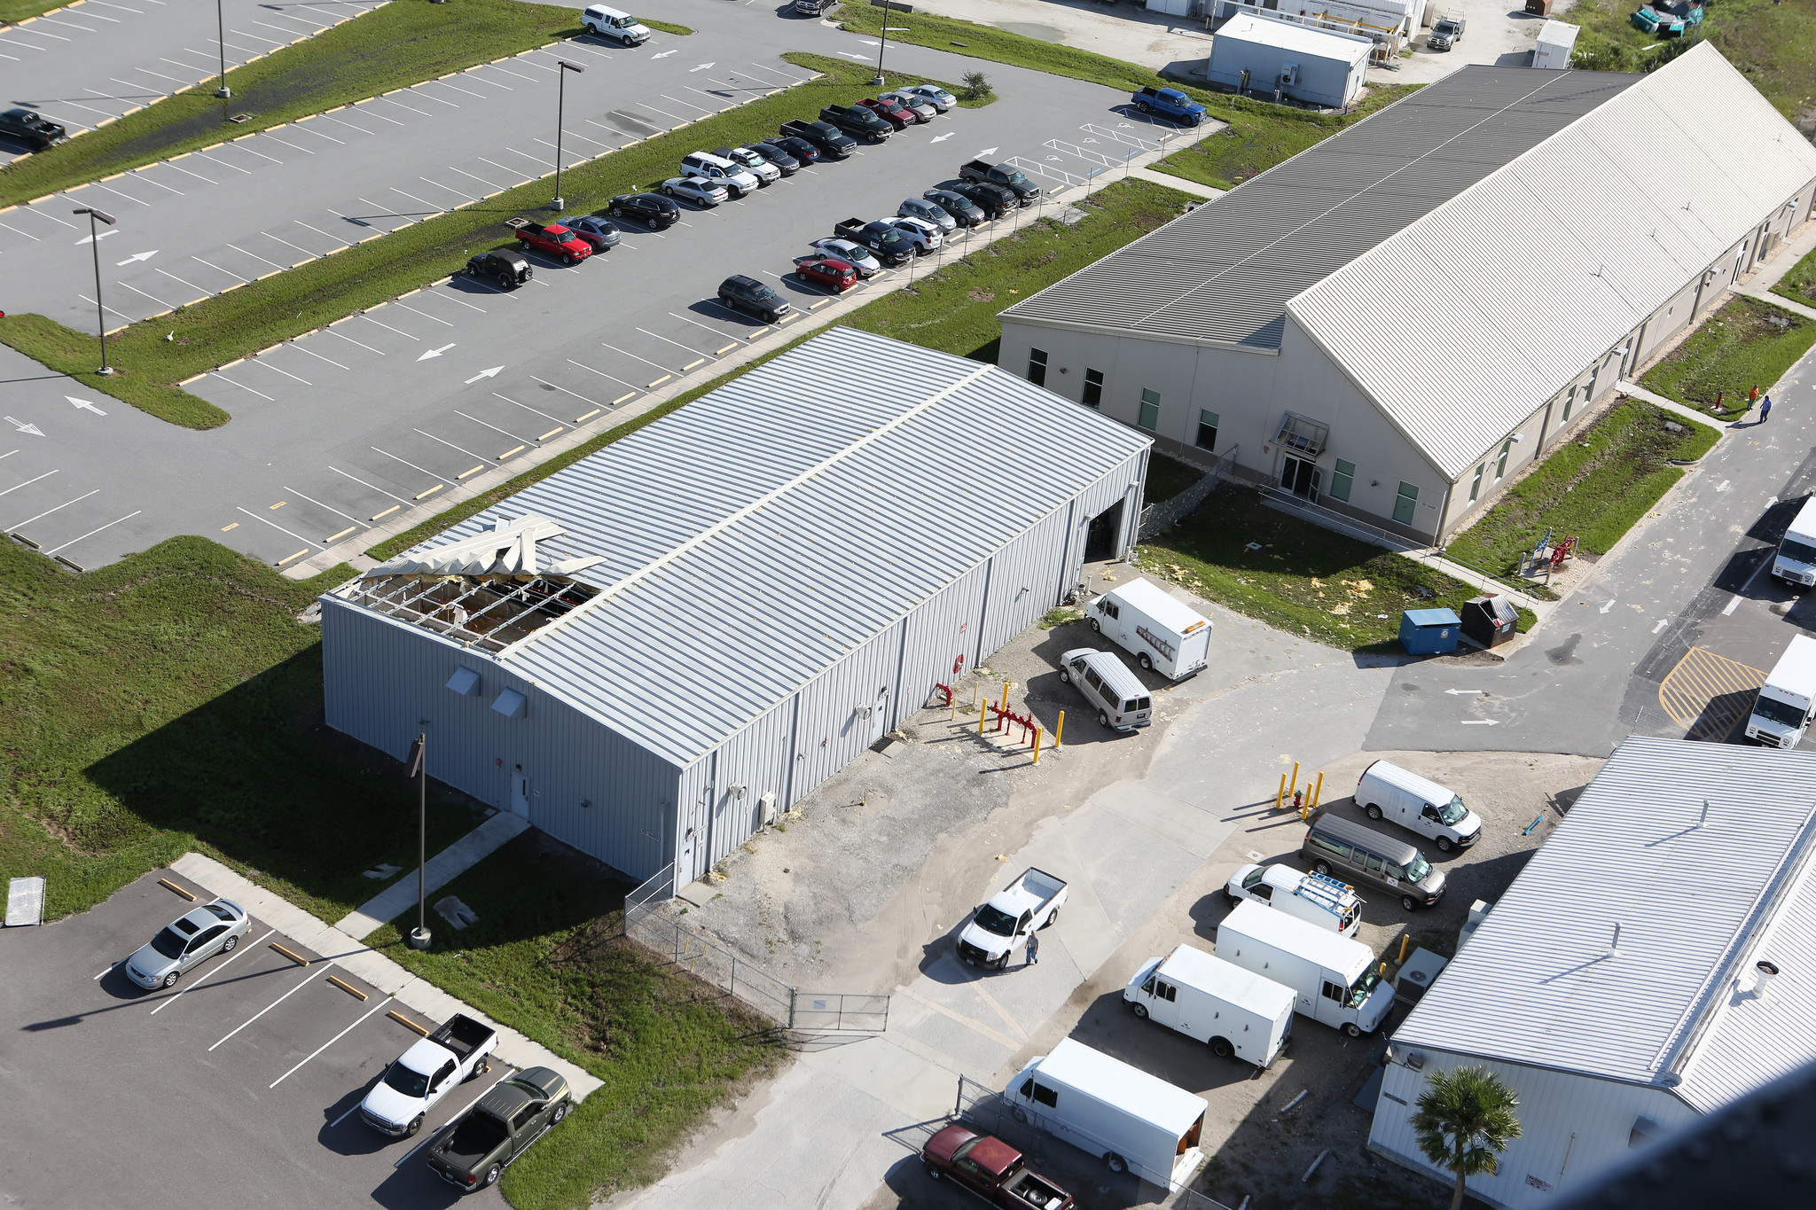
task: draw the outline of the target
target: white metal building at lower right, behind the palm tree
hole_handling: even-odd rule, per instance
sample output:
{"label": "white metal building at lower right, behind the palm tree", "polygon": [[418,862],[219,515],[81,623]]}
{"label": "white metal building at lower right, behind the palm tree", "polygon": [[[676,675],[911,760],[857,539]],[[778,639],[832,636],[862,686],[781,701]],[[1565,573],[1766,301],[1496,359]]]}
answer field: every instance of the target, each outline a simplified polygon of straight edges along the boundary
{"label": "white metal building at lower right, behind the palm tree", "polygon": [[1449,1185],[1407,1119],[1485,1067],[1522,1134],[1469,1192],[1591,1188],[1816,1059],[1812,914],[1816,755],[1629,737],[1395,1030],[1369,1147]]}

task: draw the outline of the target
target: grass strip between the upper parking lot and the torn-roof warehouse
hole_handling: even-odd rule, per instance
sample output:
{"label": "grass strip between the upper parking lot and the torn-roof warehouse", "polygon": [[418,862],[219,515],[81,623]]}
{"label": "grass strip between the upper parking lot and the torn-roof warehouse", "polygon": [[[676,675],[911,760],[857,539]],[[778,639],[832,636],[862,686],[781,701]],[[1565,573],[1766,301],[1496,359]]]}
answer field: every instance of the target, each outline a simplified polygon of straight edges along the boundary
{"label": "grass strip between the upper parking lot and the torn-roof warehouse", "polygon": [[[1189,201],[1186,194],[1140,180],[1106,185],[1082,205],[1086,216],[1071,227],[1057,221],[1030,223],[1017,236],[999,239],[986,250],[972,252],[962,261],[950,261],[939,272],[917,278],[912,288],[904,287],[879,296],[870,305],[846,316],[841,323],[863,328],[864,332],[893,336],[895,339],[924,348],[939,348],[941,352],[961,354],[979,361],[995,361],[997,341],[1001,339],[995,319],[999,310],[1017,296],[1026,298],[1059,281],[1064,274],[1153,230],[1173,218],[1186,201]],[[668,415],[706,392],[717,390],[739,374],[746,374],[765,361],[788,352],[812,336],[814,332],[806,330],[730,374],[723,374],[710,383],[676,395],[634,421],[603,432],[592,441],[541,463],[490,492],[461,501],[405,533],[385,539],[372,546],[367,555],[372,559],[390,559],[467,517],[492,508],[532,483],[547,479],[588,454],[603,450],[645,424]],[[1153,461],[1182,466],[1164,457],[1155,457]],[[1150,479],[1153,479],[1153,473],[1150,470]],[[1191,472],[1191,475],[1195,479],[1197,472]],[[1189,483],[1180,486],[1189,486]],[[1168,495],[1173,495],[1173,492]],[[1155,497],[1150,490],[1150,499],[1160,497]]]}

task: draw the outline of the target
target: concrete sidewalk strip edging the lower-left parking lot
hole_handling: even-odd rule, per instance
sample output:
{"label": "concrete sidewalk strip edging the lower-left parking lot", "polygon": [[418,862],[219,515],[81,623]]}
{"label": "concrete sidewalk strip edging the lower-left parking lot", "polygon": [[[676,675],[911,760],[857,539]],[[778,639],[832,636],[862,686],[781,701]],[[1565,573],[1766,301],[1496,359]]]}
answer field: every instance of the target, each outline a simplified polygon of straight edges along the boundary
{"label": "concrete sidewalk strip edging the lower-left parking lot", "polygon": [[[381,994],[394,996],[398,1003],[407,1009],[414,1009],[434,1021],[447,1021],[456,1012],[465,1012],[474,1020],[485,1021],[498,1030],[499,1059],[510,1063],[518,1070],[523,1070],[525,1067],[550,1067],[561,1072],[567,1076],[576,1101],[585,1101],[587,1096],[601,1085],[599,1079],[588,1076],[574,1063],[568,1063],[548,1049],[530,1041],[508,1025],[499,1025],[478,1009],[454,1000],[434,983],[410,974],[390,958],[374,951],[370,945],[365,945],[358,938],[347,936],[340,929],[316,920],[296,903],[272,894],[265,887],[247,882],[214,858],[202,856],[200,853],[185,853],[171,862],[171,869],[196,885],[205,887],[212,894],[232,900],[256,918],[263,920],[267,925],[287,934],[305,949],[320,954],[321,961],[331,961],[341,971],[365,980]],[[410,887],[414,894],[414,882]]]}

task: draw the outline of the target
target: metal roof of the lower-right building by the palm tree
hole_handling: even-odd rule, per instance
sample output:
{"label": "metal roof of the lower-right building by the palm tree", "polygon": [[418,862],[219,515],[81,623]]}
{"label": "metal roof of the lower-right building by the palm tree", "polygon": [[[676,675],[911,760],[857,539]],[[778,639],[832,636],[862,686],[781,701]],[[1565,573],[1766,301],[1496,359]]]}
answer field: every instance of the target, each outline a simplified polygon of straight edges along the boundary
{"label": "metal roof of the lower-right building by the palm tree", "polygon": [[1816,1054],[1812,853],[1816,755],[1629,737],[1395,1038],[1720,1105]]}

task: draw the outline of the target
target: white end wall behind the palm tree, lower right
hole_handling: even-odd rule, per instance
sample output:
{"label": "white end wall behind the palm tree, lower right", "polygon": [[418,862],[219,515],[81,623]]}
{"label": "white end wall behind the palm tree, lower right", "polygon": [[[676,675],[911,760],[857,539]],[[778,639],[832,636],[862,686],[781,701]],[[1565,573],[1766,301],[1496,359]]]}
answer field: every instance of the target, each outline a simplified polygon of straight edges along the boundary
{"label": "white end wall behind the palm tree, lower right", "polygon": [[[1398,1054],[1402,1047],[1395,1050]],[[1660,1132],[1698,1117],[1696,1110],[1660,1088],[1444,1050],[1426,1050],[1424,1056],[1424,1070],[1406,1067],[1404,1054],[1387,1065],[1369,1148],[1449,1186],[1455,1177],[1426,1163],[1407,1119],[1418,1110],[1418,1094],[1431,1072],[1485,1067],[1518,1094],[1522,1134],[1502,1152],[1498,1174],[1469,1177],[1469,1192],[1505,1210],[1554,1206],[1565,1194],[1582,1190],[1598,1172],[1633,1154],[1633,1128],[1640,1117],[1662,1128],[1653,1141]]]}

